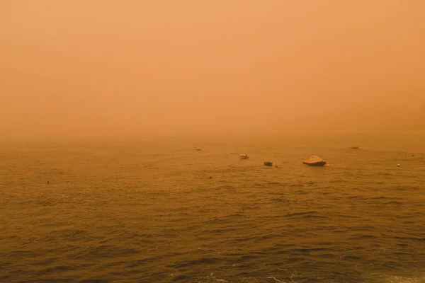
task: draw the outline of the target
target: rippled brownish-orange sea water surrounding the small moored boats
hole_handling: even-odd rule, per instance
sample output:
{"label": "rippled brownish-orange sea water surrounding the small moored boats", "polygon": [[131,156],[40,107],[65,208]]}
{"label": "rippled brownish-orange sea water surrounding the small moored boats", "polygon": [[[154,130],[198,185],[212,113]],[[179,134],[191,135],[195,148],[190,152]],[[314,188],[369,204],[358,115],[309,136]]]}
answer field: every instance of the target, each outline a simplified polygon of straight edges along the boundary
{"label": "rippled brownish-orange sea water surrounding the small moored boats", "polygon": [[423,132],[3,143],[0,282],[425,282],[424,184]]}

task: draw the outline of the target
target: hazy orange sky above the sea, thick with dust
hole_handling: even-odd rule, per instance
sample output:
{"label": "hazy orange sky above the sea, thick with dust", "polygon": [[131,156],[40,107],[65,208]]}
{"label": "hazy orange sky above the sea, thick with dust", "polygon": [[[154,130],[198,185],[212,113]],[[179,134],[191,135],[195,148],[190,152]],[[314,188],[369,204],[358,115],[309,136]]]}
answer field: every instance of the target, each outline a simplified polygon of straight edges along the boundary
{"label": "hazy orange sky above the sea, thick with dust", "polygon": [[0,137],[425,129],[423,0],[3,0]]}

